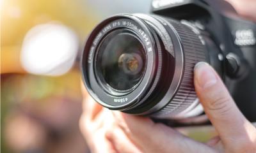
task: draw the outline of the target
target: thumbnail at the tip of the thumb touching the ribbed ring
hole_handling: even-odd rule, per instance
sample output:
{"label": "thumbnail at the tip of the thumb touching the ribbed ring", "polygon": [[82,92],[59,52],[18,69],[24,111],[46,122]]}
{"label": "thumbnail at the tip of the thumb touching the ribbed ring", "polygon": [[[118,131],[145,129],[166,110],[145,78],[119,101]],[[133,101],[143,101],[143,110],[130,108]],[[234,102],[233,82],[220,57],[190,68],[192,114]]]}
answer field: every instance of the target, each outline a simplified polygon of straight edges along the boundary
{"label": "thumbnail at the tip of the thumb touching the ribbed ring", "polygon": [[195,65],[194,72],[196,82],[204,89],[217,83],[215,72],[207,62],[198,62]]}

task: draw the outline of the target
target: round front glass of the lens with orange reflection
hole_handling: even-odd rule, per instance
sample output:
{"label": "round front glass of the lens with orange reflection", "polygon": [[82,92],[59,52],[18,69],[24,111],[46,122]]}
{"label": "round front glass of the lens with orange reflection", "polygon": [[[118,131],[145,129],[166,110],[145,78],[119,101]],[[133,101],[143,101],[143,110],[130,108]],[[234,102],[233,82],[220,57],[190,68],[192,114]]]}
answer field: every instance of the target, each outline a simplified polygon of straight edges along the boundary
{"label": "round front glass of the lens with orange reflection", "polygon": [[143,77],[145,50],[136,34],[127,29],[109,33],[95,57],[98,82],[106,91],[131,91]]}

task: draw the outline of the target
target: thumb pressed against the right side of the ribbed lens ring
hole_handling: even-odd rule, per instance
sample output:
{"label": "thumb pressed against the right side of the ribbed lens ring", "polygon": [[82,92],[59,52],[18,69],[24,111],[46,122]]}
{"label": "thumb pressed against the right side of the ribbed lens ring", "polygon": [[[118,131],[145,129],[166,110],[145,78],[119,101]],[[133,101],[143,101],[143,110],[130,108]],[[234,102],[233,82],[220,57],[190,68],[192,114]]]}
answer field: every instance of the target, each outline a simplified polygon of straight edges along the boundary
{"label": "thumb pressed against the right side of the ribbed lens ring", "polygon": [[250,122],[239,111],[220,77],[205,62],[195,66],[195,89],[224,145],[251,140]]}

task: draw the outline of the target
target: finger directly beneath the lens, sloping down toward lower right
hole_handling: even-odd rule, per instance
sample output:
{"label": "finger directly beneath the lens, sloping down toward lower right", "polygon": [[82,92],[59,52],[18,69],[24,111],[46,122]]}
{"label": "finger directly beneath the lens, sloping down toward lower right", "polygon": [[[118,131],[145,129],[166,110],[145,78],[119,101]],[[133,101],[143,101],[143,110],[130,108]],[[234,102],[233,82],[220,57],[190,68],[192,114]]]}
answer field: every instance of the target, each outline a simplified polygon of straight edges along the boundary
{"label": "finger directly beneath the lens, sloping down toward lower right", "polygon": [[118,112],[115,112],[115,117],[125,135],[143,152],[215,152],[211,147],[150,119]]}

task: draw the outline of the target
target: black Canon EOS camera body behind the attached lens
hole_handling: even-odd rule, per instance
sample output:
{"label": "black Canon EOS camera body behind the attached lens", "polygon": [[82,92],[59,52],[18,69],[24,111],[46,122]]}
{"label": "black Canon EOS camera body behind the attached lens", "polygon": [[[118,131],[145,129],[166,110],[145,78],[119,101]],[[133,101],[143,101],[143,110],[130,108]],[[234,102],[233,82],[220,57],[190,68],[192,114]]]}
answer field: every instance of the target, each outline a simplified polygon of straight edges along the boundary
{"label": "black Canon EOS camera body behind the attached lens", "polygon": [[[198,29],[207,31],[216,45],[213,52],[216,54],[219,51],[218,59],[212,59],[216,55],[209,55],[210,64],[223,78],[241,112],[247,119],[255,122],[255,22],[239,17],[229,3],[220,0],[155,0],[152,1],[152,13],[188,20]],[[211,47],[207,49],[211,50]]]}

